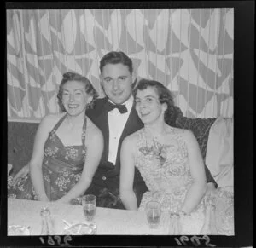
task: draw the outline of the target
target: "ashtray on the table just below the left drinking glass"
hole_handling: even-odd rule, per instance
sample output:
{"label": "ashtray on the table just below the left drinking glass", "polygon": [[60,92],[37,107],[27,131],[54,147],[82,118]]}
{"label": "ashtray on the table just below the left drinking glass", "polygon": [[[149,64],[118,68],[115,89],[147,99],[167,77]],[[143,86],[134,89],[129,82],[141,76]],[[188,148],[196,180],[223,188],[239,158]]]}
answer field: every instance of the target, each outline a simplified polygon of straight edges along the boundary
{"label": "ashtray on the table just below the left drinking glass", "polygon": [[93,235],[96,234],[95,224],[78,223],[64,229],[64,235]]}

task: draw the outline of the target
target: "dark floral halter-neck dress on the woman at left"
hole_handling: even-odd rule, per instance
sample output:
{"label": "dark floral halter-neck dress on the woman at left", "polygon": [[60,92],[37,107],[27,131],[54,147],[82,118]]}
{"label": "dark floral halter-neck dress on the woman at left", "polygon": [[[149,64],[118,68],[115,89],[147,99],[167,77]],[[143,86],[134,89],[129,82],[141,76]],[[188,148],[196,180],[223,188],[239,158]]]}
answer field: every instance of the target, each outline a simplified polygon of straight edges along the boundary
{"label": "dark floral halter-neck dress on the woman at left", "polygon": [[[54,201],[65,195],[78,181],[84,168],[86,156],[85,130],[86,118],[82,130],[82,145],[64,146],[55,131],[67,117],[64,115],[49,133],[44,145],[42,164],[44,189],[49,200]],[[38,199],[32,187],[32,181],[27,175],[19,185],[12,186],[12,176],[8,178],[8,197],[17,199]],[[79,199],[73,199],[73,204],[79,204]]]}

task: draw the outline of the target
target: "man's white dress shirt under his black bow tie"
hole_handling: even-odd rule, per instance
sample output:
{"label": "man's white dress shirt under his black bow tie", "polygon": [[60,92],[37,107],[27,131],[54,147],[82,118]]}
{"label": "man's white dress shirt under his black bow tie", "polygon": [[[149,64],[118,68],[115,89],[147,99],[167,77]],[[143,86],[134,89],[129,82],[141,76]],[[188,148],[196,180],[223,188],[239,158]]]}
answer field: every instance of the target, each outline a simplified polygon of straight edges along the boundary
{"label": "man's white dress shirt under his black bow tie", "polygon": [[[108,100],[110,101],[110,100]],[[110,101],[112,102],[112,101]],[[112,102],[113,103],[113,102]],[[123,103],[127,108],[127,112],[120,113],[119,109],[114,108],[108,112],[108,128],[109,128],[109,143],[108,143],[108,161],[115,165],[119,139],[125,128],[125,124],[129,118],[131,107],[133,104],[133,96]]]}

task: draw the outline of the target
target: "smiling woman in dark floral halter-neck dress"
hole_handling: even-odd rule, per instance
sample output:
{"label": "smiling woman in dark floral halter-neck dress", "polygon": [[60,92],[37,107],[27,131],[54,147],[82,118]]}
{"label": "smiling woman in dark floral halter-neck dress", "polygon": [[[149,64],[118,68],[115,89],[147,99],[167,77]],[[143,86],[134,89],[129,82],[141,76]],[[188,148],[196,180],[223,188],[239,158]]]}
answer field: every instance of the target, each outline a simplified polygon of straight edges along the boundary
{"label": "smiling woman in dark floral halter-neck dress", "polygon": [[61,113],[43,118],[35,136],[30,174],[18,184],[9,176],[8,197],[79,203],[102,157],[102,132],[85,116],[97,97],[90,81],[74,72],[63,75]]}

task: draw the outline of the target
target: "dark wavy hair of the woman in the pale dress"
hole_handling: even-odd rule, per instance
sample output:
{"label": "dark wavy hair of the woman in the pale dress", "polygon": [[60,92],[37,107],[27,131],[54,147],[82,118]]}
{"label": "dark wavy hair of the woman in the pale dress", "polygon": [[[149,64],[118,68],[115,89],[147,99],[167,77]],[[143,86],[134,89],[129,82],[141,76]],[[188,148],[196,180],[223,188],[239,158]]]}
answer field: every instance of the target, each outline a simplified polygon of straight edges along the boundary
{"label": "dark wavy hair of the woman in the pale dress", "polygon": [[177,113],[173,101],[172,92],[160,82],[144,78],[139,80],[136,88],[133,89],[134,99],[136,98],[137,90],[147,89],[148,87],[152,87],[156,90],[156,93],[159,95],[160,104],[166,103],[167,105],[167,109],[164,115],[166,124],[175,126]]}

